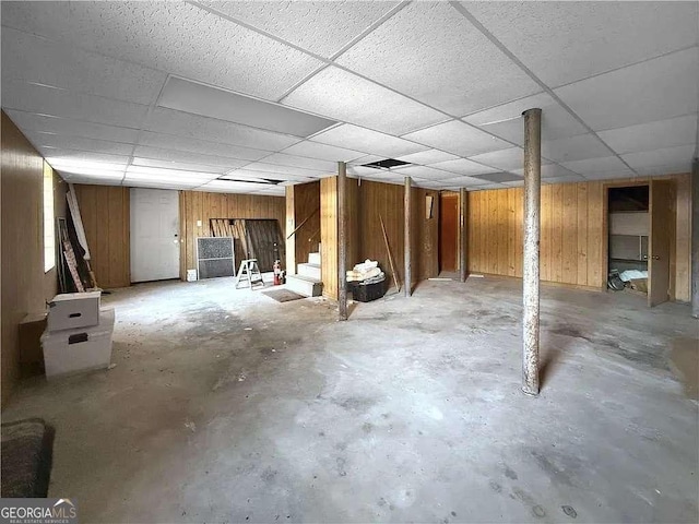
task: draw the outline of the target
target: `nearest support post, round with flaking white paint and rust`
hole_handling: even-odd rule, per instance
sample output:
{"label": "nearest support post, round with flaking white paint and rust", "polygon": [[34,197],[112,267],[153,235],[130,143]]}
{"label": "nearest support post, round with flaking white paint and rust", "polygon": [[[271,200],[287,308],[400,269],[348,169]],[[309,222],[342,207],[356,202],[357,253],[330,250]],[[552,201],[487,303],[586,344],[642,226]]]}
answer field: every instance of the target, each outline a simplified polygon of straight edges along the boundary
{"label": "nearest support post, round with flaking white paint and rust", "polygon": [[542,110],[524,115],[524,274],[522,391],[538,395],[538,241],[541,234]]}

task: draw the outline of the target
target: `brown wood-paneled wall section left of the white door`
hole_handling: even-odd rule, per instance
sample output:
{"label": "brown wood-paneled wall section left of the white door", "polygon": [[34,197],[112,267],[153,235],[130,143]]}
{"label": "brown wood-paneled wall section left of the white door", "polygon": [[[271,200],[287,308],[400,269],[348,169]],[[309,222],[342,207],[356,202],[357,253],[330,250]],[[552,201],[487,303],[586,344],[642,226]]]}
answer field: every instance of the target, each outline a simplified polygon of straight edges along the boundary
{"label": "brown wood-paneled wall section left of the white door", "polygon": [[102,288],[131,285],[130,191],[120,186],[75,184],[90,266]]}

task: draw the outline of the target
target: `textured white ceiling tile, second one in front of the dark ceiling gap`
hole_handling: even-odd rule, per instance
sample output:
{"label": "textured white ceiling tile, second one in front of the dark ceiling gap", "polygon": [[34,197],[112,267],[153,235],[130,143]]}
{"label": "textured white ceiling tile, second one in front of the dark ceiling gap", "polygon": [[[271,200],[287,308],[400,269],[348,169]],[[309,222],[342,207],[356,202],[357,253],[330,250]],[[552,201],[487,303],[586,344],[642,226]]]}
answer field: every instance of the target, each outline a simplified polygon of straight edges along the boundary
{"label": "textured white ceiling tile, second one in front of the dark ceiling gap", "polygon": [[403,134],[448,117],[330,66],[294,90],[285,105],[377,131]]}

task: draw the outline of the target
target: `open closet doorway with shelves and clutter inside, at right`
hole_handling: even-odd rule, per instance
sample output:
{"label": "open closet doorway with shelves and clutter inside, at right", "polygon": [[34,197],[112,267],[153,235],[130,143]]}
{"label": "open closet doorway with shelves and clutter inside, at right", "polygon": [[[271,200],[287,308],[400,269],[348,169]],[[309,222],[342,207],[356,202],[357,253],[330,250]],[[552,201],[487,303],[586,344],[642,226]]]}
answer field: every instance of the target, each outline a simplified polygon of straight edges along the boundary
{"label": "open closet doorway with shelves and clutter inside, at right", "polygon": [[650,187],[609,188],[607,193],[609,289],[648,294]]}

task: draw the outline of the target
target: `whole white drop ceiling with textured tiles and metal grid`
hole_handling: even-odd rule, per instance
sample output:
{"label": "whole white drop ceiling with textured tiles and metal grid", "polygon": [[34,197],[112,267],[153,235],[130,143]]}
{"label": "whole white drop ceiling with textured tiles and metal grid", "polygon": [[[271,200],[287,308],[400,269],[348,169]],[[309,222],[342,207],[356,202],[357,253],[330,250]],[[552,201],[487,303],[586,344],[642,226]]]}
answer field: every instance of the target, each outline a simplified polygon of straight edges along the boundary
{"label": "whole white drop ceiling with textured tiles and metal grid", "polygon": [[[2,108],[73,182],[283,194],[685,172],[699,3],[1,2]],[[408,162],[391,170],[364,164]]]}

